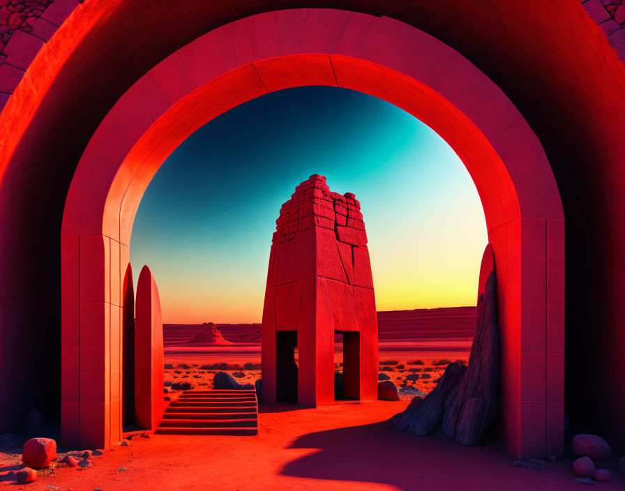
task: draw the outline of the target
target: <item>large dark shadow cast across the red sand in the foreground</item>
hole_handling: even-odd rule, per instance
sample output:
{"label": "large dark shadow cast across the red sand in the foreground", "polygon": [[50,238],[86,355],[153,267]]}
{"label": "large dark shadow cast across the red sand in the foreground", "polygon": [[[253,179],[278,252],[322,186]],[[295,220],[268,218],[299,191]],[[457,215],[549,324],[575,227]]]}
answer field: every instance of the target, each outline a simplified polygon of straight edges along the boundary
{"label": "large dark shadow cast across the red sand in the foreground", "polygon": [[511,483],[511,474],[523,481],[518,471],[527,472],[510,467],[511,456],[500,448],[468,448],[442,436],[414,437],[396,432],[391,421],[309,433],[289,448],[319,451],[286,464],[280,471],[285,476],[380,483],[400,490],[517,490],[523,484]]}

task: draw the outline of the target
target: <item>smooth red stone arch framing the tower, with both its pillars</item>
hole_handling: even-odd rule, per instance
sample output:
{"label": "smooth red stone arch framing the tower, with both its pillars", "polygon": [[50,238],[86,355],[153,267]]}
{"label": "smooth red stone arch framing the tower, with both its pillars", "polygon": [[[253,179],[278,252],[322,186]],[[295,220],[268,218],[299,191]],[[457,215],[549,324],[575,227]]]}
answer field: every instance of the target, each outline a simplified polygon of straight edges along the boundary
{"label": "smooth red stone arch framing the tower, with both its pillars", "polygon": [[[497,262],[502,439],[515,455],[561,453],[564,216],[539,139],[451,47],[388,17],[325,9],[255,15],[207,33],[138,80],[93,134],[61,232],[64,437],[93,447],[119,437],[120,285],[135,213],[158,167],[218,114],[303,85],[387,100],[458,153]],[[101,440],[92,428],[110,432]]]}

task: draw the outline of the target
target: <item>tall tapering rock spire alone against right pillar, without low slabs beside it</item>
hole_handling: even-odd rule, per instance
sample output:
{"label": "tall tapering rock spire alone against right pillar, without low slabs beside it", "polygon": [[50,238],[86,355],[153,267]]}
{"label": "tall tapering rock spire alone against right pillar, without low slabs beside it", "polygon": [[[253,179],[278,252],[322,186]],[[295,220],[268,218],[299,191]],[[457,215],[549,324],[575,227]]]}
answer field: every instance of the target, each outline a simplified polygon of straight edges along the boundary
{"label": "tall tapering rock spire alone against right pillar, without low slabs beside it", "polygon": [[484,252],[488,265],[484,291],[479,291],[475,336],[465,376],[458,392],[448,400],[442,431],[467,446],[479,445],[497,414],[499,375],[499,328],[497,326],[497,279],[492,248]]}

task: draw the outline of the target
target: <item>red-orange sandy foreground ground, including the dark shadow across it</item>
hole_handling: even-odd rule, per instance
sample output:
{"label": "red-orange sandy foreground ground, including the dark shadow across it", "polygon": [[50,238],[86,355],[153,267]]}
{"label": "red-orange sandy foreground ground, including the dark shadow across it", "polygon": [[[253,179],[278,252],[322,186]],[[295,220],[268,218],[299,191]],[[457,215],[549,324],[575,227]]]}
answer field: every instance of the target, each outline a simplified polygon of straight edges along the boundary
{"label": "red-orange sandy foreground ground, including the dark shadow across it", "polygon": [[[407,401],[342,403],[320,409],[262,406],[259,435],[134,438],[93,458],[93,467],[55,469],[12,489],[82,490],[580,490],[571,460],[545,471],[511,467],[494,446],[468,448],[442,437],[393,431]],[[614,465],[614,462],[610,462]],[[625,476],[598,484],[622,489]]]}

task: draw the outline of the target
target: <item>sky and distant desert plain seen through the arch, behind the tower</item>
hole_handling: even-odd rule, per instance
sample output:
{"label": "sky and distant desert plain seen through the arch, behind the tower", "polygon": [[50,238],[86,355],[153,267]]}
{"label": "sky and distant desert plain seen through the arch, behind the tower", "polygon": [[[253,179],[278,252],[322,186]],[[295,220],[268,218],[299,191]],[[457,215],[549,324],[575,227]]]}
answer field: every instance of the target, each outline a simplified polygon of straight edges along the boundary
{"label": "sky and distant desert plain seen through the arch, behind the tower", "polygon": [[[142,198],[130,260],[135,271],[148,264],[158,279],[166,398],[181,387],[211,387],[216,371],[239,384],[259,379],[269,238],[280,204],[313,172],[363,204],[383,311],[379,377],[409,398],[432,390],[445,360],[467,362],[488,237],[464,165],[396,106],[347,89],[303,87],[262,96],[199,128]],[[451,309],[428,311],[438,308]],[[437,329],[445,338],[438,348],[430,343]],[[334,343],[336,399],[357,400],[358,335],[337,331]],[[280,347],[277,340],[278,355]],[[278,360],[278,373],[296,367],[294,347]],[[293,373],[279,384],[296,381]],[[296,402],[278,394],[283,399]]]}

